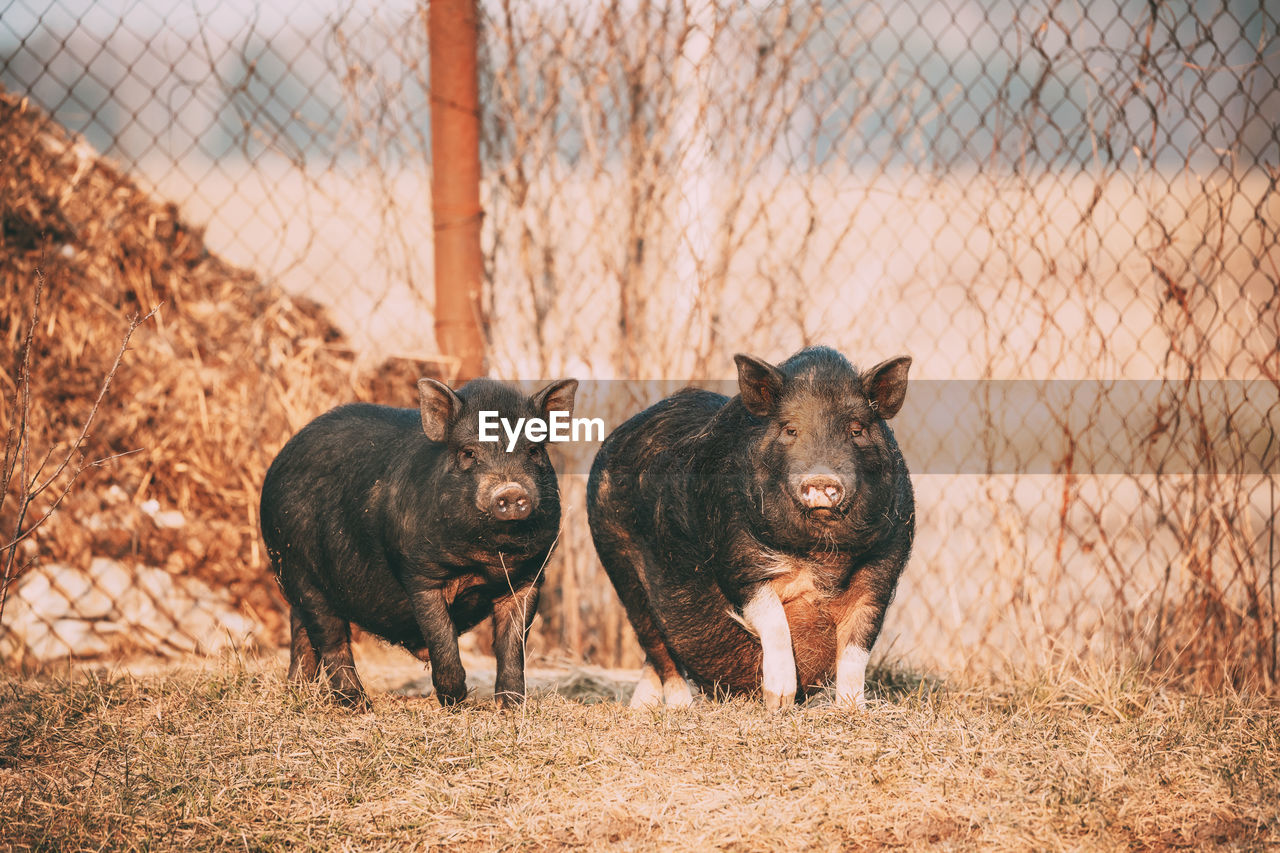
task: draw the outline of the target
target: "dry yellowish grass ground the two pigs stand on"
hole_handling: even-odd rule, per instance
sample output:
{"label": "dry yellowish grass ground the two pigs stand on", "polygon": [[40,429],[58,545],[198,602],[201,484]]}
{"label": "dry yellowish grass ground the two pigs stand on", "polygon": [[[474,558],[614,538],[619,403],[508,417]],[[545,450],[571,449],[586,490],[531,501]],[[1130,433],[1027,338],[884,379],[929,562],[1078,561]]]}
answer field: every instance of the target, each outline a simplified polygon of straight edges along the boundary
{"label": "dry yellowish grass ground the two pigs stand on", "polygon": [[[1126,672],[989,684],[881,669],[879,702],[632,712],[599,674],[521,712],[380,693],[352,715],[278,660],[0,683],[0,843],[27,848],[1257,848],[1280,707]],[[603,699],[603,701],[602,701]]]}

